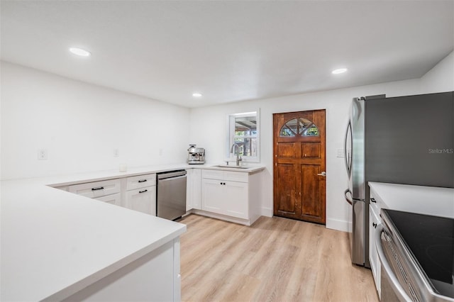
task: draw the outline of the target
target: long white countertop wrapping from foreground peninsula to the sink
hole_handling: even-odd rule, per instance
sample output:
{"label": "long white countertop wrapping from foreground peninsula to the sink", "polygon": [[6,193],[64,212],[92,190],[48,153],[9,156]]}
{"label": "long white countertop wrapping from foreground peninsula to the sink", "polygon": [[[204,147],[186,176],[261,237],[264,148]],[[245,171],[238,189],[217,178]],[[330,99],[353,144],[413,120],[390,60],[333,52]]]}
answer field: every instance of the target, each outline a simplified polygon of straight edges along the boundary
{"label": "long white countertop wrapping from foreground peninsula to the sink", "polygon": [[52,188],[172,169],[248,169],[165,164],[0,182],[1,301],[62,300],[148,254],[186,225]]}

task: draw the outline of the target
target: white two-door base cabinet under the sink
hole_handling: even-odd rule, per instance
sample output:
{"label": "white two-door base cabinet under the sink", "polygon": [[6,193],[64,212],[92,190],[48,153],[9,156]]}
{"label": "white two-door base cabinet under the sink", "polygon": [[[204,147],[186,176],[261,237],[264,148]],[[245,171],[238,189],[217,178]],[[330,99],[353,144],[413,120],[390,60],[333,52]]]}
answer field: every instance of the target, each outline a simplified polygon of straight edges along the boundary
{"label": "white two-door base cabinet under the sink", "polygon": [[201,177],[201,214],[245,225],[260,217],[260,173],[203,169]]}

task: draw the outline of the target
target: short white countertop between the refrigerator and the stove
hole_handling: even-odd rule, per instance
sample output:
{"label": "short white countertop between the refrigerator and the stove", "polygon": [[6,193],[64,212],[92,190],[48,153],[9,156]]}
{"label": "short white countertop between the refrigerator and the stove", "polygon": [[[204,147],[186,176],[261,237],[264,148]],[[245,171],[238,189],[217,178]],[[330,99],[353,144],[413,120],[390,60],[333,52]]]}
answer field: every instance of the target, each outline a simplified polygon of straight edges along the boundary
{"label": "short white countertop between the refrigerator and the stove", "polygon": [[454,189],[369,182],[380,208],[454,218]]}

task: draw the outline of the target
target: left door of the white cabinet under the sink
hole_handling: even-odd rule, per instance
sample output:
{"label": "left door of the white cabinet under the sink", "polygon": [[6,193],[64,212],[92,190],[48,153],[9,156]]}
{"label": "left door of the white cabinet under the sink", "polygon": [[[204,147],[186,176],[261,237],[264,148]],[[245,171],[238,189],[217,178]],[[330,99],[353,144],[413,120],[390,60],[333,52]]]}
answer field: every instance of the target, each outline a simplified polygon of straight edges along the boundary
{"label": "left door of the white cabinet under the sink", "polygon": [[202,179],[201,209],[218,214],[225,214],[224,181]]}

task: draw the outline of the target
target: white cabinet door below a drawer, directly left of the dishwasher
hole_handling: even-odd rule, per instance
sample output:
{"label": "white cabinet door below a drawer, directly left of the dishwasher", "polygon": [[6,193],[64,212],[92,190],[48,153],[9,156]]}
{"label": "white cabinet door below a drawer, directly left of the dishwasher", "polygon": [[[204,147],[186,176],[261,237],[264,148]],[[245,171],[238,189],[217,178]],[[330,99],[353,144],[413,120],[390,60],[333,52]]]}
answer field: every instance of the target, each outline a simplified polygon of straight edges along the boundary
{"label": "white cabinet door below a drawer, directly left of the dishwasher", "polygon": [[156,186],[127,191],[126,208],[156,216]]}

